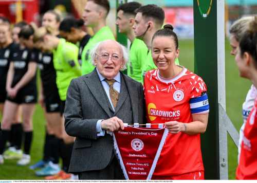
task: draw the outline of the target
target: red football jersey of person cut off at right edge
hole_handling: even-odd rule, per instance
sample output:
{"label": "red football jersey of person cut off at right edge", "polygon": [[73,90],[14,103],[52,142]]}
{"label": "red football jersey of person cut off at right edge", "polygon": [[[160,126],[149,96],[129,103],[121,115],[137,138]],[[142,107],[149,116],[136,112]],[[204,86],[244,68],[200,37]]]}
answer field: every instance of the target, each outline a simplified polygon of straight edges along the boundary
{"label": "red football jersey of person cut off at right edge", "polygon": [[237,179],[257,179],[257,97],[249,114],[241,145]]}

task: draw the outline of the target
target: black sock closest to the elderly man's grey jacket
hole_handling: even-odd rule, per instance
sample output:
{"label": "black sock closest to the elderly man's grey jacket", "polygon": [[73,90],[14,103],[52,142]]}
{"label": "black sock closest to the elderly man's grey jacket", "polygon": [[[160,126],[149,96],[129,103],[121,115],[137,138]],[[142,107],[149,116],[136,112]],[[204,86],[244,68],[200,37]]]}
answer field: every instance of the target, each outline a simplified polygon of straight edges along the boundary
{"label": "black sock closest to the elderly man's grey jacket", "polygon": [[70,163],[70,157],[73,149],[74,143],[65,144],[62,140],[61,142],[61,157],[63,160],[63,171],[68,173],[69,170],[69,163]]}

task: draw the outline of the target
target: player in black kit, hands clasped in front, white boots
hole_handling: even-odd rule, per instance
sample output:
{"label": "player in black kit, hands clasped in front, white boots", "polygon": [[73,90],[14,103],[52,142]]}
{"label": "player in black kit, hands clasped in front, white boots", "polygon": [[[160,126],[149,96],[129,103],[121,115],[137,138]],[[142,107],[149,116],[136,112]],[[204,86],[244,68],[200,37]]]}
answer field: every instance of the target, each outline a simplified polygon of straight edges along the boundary
{"label": "player in black kit, hands clasped in front, white boots", "polygon": [[5,102],[3,121],[1,124],[3,136],[0,142],[0,155],[3,155],[6,140],[10,135],[12,119],[22,105],[22,118],[24,130],[24,154],[17,161],[24,166],[30,162],[30,148],[32,144],[32,115],[37,101],[36,90],[36,62],[33,48],[32,26],[26,25],[19,33],[20,45],[10,51],[10,66],[7,75],[7,100]]}

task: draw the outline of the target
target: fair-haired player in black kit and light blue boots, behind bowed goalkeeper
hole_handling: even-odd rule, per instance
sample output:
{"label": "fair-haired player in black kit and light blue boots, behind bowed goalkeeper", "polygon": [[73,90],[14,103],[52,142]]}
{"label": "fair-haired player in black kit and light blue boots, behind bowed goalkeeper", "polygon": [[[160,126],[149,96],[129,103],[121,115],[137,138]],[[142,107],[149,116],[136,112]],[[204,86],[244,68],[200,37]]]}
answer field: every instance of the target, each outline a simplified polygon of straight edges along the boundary
{"label": "fair-haired player in black kit and light blue boots, behind bowed goalkeeper", "polygon": [[[59,34],[61,17],[52,10],[43,15],[42,26],[49,27],[54,35]],[[38,176],[54,175],[60,172],[60,143],[63,137],[62,117],[60,115],[61,100],[56,84],[56,70],[53,67],[51,52],[40,52],[38,58],[40,68],[41,90],[39,102],[44,109],[46,118],[46,135],[43,159],[36,162],[30,169],[42,168],[35,172]]]}

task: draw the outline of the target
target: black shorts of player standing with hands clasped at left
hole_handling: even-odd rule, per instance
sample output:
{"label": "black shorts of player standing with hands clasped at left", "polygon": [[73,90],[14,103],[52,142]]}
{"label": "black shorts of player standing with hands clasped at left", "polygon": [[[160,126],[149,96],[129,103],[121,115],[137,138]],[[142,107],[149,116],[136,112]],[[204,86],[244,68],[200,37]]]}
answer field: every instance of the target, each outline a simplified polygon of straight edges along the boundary
{"label": "black shorts of player standing with hands clasped at left", "polygon": [[9,96],[7,96],[6,100],[17,104],[36,103],[38,101],[38,91],[36,90],[36,87],[22,88],[18,91],[15,98],[10,98]]}

